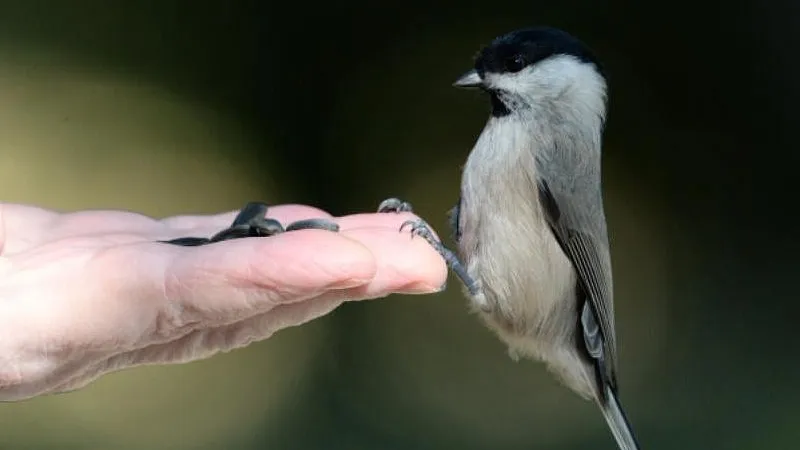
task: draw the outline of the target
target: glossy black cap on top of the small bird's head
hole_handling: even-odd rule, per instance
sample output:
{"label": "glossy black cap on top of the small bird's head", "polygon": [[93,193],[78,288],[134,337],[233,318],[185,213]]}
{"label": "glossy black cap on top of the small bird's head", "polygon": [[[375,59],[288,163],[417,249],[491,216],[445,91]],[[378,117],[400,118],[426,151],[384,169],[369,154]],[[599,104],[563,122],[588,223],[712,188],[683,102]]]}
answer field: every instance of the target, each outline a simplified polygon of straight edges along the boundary
{"label": "glossy black cap on top of the small bird's head", "polygon": [[555,55],[569,55],[581,62],[592,63],[605,76],[589,47],[569,33],[550,27],[525,28],[496,38],[478,53],[475,70],[481,77],[486,72],[519,72]]}

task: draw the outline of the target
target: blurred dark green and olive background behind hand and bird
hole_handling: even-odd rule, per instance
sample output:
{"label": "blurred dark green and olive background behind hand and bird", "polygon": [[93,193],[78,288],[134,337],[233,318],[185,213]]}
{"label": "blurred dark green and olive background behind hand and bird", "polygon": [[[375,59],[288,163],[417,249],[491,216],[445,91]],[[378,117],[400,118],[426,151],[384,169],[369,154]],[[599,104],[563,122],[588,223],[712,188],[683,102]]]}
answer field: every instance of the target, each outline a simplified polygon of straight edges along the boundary
{"label": "blurred dark green and olive background behind hand and bird", "polygon": [[[621,395],[643,448],[793,448],[798,9],[0,0],[0,200],[347,214],[394,195],[446,231],[488,108],[450,83],[494,36],[562,27],[611,75]],[[0,448],[615,448],[594,405],[512,362],[450,287],[0,405]]]}

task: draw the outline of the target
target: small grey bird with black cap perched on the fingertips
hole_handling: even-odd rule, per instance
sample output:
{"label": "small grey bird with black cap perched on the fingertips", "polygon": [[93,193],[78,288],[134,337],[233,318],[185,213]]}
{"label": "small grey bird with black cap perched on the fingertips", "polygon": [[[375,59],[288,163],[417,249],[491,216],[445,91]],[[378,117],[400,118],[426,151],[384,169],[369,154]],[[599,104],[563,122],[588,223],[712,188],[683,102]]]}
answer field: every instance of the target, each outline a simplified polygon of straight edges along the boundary
{"label": "small grey bird with black cap perched on the fingertips", "polygon": [[[622,450],[639,449],[618,400],[601,64],[564,31],[527,28],[483,48],[454,86],[491,105],[451,213],[458,254],[424,220],[401,231],[411,225],[445,258],[512,357],[543,361],[599,405]],[[390,198],[378,211],[411,209]]]}

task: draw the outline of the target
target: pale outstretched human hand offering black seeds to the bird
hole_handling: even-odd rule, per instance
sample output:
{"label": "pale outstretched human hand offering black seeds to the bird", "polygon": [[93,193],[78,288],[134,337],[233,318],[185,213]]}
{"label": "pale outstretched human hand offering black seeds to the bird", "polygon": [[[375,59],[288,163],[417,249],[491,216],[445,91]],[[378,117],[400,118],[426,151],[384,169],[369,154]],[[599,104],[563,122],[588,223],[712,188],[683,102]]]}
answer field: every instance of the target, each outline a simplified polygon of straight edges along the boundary
{"label": "pale outstretched human hand offering black seeds to the bird", "polygon": [[143,364],[207,358],[327,314],[344,301],[438,291],[447,272],[410,213],[332,218],[271,207],[298,230],[199,247],[235,212],[155,220],[122,211],[59,214],[0,205],[0,400],[83,387]]}

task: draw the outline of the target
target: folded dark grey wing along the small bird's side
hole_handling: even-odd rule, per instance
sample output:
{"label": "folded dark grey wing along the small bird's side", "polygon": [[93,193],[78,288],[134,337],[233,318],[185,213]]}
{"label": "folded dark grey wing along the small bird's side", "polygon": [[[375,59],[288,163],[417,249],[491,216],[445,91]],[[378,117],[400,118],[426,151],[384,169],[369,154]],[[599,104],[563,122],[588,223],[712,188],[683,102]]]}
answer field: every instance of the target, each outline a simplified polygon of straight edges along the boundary
{"label": "folded dark grey wing along the small bird's side", "polygon": [[[605,239],[605,225],[598,227],[584,223],[586,215],[575,210],[577,207],[569,201],[566,192],[553,192],[542,178],[537,180],[537,185],[547,222],[572,262],[578,274],[579,292],[586,298],[584,304],[579,305],[586,350],[597,364],[599,381],[616,390],[617,348],[611,265],[607,244],[599,240]],[[602,205],[596,207],[602,208]],[[605,219],[598,215],[593,220]],[[597,236],[598,232],[603,236]],[[602,389],[600,393],[602,395]]]}

